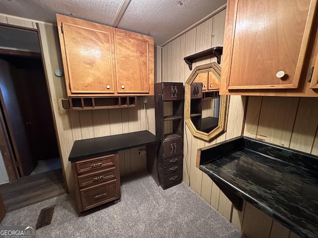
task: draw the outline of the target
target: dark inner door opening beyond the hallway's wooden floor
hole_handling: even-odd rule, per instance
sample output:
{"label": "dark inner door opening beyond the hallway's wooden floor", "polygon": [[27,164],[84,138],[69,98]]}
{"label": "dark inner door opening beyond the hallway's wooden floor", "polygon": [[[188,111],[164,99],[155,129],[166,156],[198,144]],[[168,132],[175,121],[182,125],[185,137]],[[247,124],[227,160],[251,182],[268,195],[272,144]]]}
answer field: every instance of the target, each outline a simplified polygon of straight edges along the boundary
{"label": "dark inner door opening beyond the hallway's wooden floor", "polygon": [[0,64],[1,112],[18,177],[61,168],[41,58],[0,54]]}

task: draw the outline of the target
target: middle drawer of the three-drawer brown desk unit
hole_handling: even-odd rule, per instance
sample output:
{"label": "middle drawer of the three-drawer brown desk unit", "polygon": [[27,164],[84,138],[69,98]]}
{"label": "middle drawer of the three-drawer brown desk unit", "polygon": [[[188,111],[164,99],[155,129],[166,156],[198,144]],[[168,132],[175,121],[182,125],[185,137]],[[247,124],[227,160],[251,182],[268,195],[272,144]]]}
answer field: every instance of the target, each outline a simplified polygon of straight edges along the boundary
{"label": "middle drawer of the three-drawer brown desk unit", "polygon": [[81,175],[78,177],[79,187],[87,187],[96,183],[106,182],[111,179],[116,179],[115,169],[107,169],[94,173]]}

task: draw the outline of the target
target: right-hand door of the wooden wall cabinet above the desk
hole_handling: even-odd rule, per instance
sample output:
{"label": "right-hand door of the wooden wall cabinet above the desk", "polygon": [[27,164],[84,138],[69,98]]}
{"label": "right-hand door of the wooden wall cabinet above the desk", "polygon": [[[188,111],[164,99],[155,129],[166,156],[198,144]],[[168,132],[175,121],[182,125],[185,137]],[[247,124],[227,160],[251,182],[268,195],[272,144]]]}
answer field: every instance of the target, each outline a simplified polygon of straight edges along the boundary
{"label": "right-hand door of the wooden wall cabinet above the desk", "polygon": [[114,43],[117,93],[149,93],[150,42],[147,36],[116,32]]}

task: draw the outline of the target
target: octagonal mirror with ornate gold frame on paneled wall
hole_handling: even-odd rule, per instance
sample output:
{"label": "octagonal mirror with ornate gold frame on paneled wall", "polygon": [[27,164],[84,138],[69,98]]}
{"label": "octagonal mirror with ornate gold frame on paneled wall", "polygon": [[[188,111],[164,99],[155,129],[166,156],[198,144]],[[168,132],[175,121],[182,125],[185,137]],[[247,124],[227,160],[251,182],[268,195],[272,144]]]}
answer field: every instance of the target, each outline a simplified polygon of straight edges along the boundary
{"label": "octagonal mirror with ornate gold frame on paneled wall", "polygon": [[191,133],[210,141],[226,131],[229,100],[220,95],[221,67],[196,66],[184,85],[184,119]]}

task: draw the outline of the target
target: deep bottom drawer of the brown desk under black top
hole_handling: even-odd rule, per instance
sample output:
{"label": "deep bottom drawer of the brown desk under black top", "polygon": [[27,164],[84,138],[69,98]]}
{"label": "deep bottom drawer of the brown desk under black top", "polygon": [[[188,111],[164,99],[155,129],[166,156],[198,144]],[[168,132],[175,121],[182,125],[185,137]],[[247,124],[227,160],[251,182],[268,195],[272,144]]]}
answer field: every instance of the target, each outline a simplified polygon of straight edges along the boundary
{"label": "deep bottom drawer of the brown desk under black top", "polygon": [[117,196],[117,186],[117,181],[114,179],[109,182],[81,189],[82,209],[87,210],[103,203],[116,200],[119,198]]}

